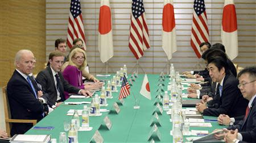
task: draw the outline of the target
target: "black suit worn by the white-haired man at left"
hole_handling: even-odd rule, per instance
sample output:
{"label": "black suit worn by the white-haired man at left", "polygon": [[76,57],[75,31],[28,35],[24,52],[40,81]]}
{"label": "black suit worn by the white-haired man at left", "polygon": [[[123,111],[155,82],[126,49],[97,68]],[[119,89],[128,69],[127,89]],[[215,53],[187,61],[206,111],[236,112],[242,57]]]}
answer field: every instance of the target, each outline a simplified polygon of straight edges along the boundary
{"label": "black suit worn by the white-haired man at left", "polygon": [[[32,82],[36,94],[38,87]],[[7,96],[9,99],[9,105],[11,110],[11,117],[13,119],[36,119],[41,120],[43,118],[42,113],[48,112],[47,104],[42,104],[35,97],[30,84],[27,79],[22,77],[16,70],[10,81],[7,84]],[[45,98],[47,99],[47,98]],[[26,123],[13,123],[11,128],[11,136],[14,134],[23,134],[32,127],[32,124]]]}

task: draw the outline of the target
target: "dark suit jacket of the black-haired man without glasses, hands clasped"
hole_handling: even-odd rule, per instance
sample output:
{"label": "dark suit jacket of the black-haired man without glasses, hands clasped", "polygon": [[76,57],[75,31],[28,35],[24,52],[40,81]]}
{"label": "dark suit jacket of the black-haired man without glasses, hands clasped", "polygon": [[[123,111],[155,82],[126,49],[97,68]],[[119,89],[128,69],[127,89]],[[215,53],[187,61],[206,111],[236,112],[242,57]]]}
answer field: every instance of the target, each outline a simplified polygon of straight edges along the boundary
{"label": "dark suit jacket of the black-haired man without glasses, hands clasped", "polygon": [[226,74],[222,85],[222,95],[219,100],[220,107],[206,108],[203,115],[218,116],[221,113],[230,117],[245,115],[248,100],[243,98],[237,85],[238,79],[233,74]]}

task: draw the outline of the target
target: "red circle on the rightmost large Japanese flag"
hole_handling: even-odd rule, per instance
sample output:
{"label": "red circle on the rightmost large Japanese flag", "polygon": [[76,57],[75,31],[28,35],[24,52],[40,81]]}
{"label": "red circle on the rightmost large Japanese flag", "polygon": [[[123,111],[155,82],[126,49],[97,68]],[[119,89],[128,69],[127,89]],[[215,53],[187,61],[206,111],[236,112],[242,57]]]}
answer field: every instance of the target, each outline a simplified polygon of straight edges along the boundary
{"label": "red circle on the rightmost large Japanese flag", "polygon": [[232,4],[226,5],[223,9],[222,29],[225,32],[234,32],[237,30],[236,7]]}

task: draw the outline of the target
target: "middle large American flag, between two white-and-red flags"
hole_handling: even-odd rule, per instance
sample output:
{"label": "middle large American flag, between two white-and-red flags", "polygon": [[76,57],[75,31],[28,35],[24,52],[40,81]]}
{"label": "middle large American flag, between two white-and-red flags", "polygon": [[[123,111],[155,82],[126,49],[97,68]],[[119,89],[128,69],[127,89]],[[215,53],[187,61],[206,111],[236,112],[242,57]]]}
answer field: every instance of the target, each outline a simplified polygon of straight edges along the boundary
{"label": "middle large American flag, between two white-and-red flags", "polygon": [[144,50],[150,48],[146,14],[142,0],[133,0],[131,5],[129,48],[137,60],[143,56]]}

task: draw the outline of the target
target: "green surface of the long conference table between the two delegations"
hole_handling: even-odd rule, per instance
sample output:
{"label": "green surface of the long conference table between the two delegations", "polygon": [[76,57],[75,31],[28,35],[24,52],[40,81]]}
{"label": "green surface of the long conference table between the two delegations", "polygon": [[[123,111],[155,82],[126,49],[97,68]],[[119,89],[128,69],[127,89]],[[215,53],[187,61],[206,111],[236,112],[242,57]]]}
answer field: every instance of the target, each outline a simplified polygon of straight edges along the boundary
{"label": "green surface of the long conference table between the two delegations", "polygon": [[[144,74],[139,74],[138,78],[133,82],[133,86],[131,86],[131,95],[125,98],[125,103],[123,105],[119,104],[121,111],[117,113],[113,112],[102,112],[102,116],[90,116],[89,124],[90,127],[93,127],[92,131],[79,131],[78,132],[78,140],[79,142],[90,142],[92,140],[93,134],[98,130],[104,139],[104,142],[150,142],[148,141],[148,134],[151,131],[151,117],[152,112],[154,111],[154,101],[156,90],[158,89],[158,74],[147,74],[148,81],[150,84],[151,90],[151,100],[144,98],[139,91],[141,90],[142,81],[144,78]],[[111,77],[99,77],[99,79],[110,80]],[[167,90],[169,79],[165,78],[165,86],[164,90]],[[113,103],[119,102],[120,87],[118,87],[118,92],[112,92],[113,99],[108,99],[108,107],[107,110],[113,110]],[[183,91],[186,92],[186,91]],[[135,98],[137,98],[139,102],[140,108],[135,110]],[[97,91],[96,94],[100,95],[100,91]],[[92,99],[67,99],[65,102],[82,102],[87,101],[90,102]],[[75,105],[75,106],[65,106],[61,104],[60,107],[56,108],[53,112],[49,113],[43,120],[39,121],[35,126],[38,127],[55,127],[50,131],[46,130],[33,130],[30,129],[26,132],[26,134],[51,134],[52,138],[56,138],[57,142],[59,142],[59,133],[64,131],[64,120],[71,120],[72,116],[67,116],[67,112],[70,109],[74,110],[82,110],[85,104]],[[90,104],[87,104],[90,106]],[[101,124],[104,123],[104,117],[108,116],[110,121],[112,121],[112,128],[110,130],[102,127]],[[170,115],[167,115],[166,111],[163,112],[163,115],[159,115],[159,119],[162,123],[162,127],[158,127],[160,132],[160,142],[172,142],[172,136],[170,135],[170,131],[172,129],[172,123],[170,122]],[[204,116],[204,119],[217,119],[217,117],[213,116]],[[195,130],[207,130],[212,132],[217,128],[224,128],[224,126],[218,125],[217,122],[212,122],[212,128],[208,127],[190,127]],[[81,125],[81,116],[80,116],[80,125]],[[67,132],[68,136],[68,132]],[[184,136],[184,141],[185,141]],[[190,136],[189,136],[190,137]],[[156,140],[157,141],[157,140]]]}

